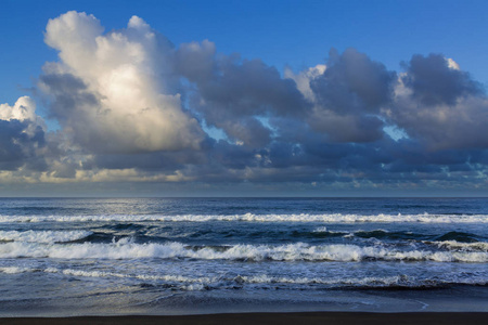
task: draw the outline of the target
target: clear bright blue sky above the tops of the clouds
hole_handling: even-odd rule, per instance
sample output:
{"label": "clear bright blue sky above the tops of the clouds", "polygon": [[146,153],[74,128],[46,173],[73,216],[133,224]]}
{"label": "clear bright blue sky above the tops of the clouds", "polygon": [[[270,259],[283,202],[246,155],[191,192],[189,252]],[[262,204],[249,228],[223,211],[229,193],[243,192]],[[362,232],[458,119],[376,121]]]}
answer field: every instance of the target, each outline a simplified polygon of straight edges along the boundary
{"label": "clear bright blue sky above the tops of the clouds", "polygon": [[334,47],[354,47],[398,69],[413,54],[442,53],[488,82],[486,1],[25,1],[2,0],[0,98],[12,103],[56,57],[43,42],[48,20],[85,11],[107,30],[132,15],[172,42],[215,42],[219,51],[262,58],[282,69],[322,63]]}

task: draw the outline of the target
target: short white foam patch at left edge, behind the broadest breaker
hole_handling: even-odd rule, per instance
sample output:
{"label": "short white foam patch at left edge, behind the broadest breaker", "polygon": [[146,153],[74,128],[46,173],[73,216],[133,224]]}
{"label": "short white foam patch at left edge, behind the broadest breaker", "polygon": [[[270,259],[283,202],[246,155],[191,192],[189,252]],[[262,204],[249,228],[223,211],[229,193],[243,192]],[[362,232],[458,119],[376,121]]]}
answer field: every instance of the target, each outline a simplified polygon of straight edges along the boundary
{"label": "short white foam patch at left edge, behind the broadest breaker", "polygon": [[0,231],[0,242],[67,243],[92,234],[90,231]]}

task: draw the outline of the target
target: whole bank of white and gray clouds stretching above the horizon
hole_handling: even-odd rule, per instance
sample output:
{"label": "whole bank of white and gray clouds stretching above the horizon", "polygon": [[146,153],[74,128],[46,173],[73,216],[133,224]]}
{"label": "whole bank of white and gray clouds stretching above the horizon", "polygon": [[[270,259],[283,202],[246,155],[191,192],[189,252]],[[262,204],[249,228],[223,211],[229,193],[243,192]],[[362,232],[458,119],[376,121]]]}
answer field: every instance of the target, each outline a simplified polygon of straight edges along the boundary
{"label": "whole bank of white and gray clouds stretching above the horizon", "polygon": [[78,12],[50,20],[44,41],[59,60],[37,93],[60,128],[27,96],[0,105],[4,182],[488,187],[487,95],[442,54],[394,72],[332,49],[281,73],[209,40],[174,46],[137,16],[105,32]]}

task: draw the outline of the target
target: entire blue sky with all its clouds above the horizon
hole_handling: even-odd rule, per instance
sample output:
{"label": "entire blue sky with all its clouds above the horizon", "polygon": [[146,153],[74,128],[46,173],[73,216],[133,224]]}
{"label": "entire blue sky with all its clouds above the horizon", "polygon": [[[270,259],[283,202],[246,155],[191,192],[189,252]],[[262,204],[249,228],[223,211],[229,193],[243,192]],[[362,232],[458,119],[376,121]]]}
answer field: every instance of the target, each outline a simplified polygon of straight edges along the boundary
{"label": "entire blue sky with all its clouds above the horizon", "polygon": [[486,196],[485,1],[0,1],[0,196]]}

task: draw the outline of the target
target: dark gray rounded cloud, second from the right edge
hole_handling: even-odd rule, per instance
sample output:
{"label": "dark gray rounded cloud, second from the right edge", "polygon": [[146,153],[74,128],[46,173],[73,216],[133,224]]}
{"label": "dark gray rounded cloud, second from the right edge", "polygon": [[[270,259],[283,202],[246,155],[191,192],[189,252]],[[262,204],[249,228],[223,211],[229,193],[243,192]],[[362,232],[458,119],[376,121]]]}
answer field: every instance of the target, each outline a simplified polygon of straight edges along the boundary
{"label": "dark gray rounded cloud, second from the right edge", "polygon": [[380,109],[391,102],[396,73],[355,49],[331,50],[325,72],[310,80],[318,105],[310,126],[336,142],[372,142],[383,136]]}

